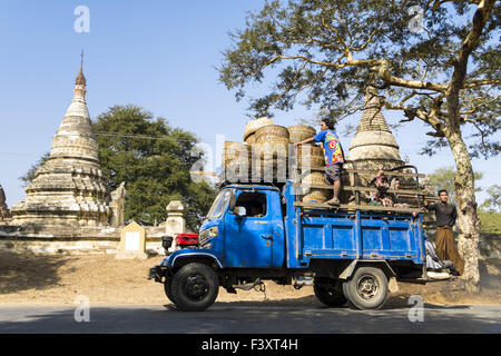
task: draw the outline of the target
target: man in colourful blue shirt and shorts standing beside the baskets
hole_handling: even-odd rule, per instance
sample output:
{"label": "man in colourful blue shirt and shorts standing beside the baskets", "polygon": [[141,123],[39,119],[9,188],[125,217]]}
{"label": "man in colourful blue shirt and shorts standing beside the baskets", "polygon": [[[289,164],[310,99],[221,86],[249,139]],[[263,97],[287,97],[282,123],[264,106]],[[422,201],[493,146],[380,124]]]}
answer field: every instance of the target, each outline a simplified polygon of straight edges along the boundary
{"label": "man in colourful blue shirt and shorts standing beside the baskets", "polygon": [[333,198],[326,202],[328,205],[340,205],[341,169],[345,159],[340,138],[334,131],[334,125],[331,120],[323,119],[321,121],[321,131],[316,136],[306,138],[296,145],[310,144],[313,141],[323,144],[325,155],[324,177],[328,185],[333,185]]}

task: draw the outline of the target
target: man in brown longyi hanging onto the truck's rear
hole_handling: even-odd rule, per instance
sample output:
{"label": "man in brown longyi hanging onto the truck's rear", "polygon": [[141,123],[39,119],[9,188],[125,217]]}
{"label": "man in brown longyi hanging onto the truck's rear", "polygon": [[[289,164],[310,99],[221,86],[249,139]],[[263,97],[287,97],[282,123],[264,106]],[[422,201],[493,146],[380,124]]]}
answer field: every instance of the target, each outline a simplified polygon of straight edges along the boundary
{"label": "man in brown longyi hanging onto the truck's rear", "polygon": [[462,275],[464,263],[455,247],[452,231],[458,211],[455,205],[448,202],[449,194],[445,189],[439,191],[439,199],[440,201],[430,205],[424,201],[424,207],[429,211],[435,211],[436,216],[436,255],[441,260],[452,260],[458,273]]}

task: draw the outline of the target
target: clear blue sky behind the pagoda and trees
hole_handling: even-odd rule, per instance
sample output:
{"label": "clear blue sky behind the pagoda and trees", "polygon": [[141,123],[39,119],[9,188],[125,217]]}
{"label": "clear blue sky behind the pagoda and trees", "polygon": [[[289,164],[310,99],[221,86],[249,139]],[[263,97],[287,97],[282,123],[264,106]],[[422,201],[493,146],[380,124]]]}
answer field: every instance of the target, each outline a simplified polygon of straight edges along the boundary
{"label": "clear blue sky behind the pagoda and trees", "polygon": [[[245,12],[262,4],[235,0],[0,0],[0,184],[8,205],[26,196],[18,178],[50,150],[72,98],[82,49],[92,118],[114,105],[135,103],[208,145],[215,145],[217,134],[242,140],[248,103],[235,101],[234,93],[218,82],[215,67],[220,66],[222,51],[230,43],[227,32],[243,28]],[[78,6],[89,8],[88,33],[73,29]],[[274,121],[289,126],[314,117],[315,112],[298,107],[277,112]],[[402,116],[387,112],[385,117],[395,123]],[[356,125],[358,118],[360,113],[350,122]],[[453,166],[449,149],[433,158],[418,155],[425,132],[418,121],[394,132],[402,157],[425,174]],[[343,140],[348,147],[351,137]],[[474,169],[484,174],[478,185],[498,184],[500,164],[500,158],[474,160]],[[478,195],[480,202],[484,198]]]}

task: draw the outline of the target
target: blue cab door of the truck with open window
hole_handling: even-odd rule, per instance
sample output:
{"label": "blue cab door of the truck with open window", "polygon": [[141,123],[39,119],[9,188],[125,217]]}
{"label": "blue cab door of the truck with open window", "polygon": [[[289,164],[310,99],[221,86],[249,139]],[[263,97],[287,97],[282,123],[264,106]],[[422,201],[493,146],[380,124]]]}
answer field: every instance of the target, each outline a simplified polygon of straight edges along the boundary
{"label": "blue cab door of the truck with open window", "polygon": [[266,192],[238,191],[236,206],[243,206],[246,216],[229,210],[225,215],[224,265],[271,267],[273,225]]}

